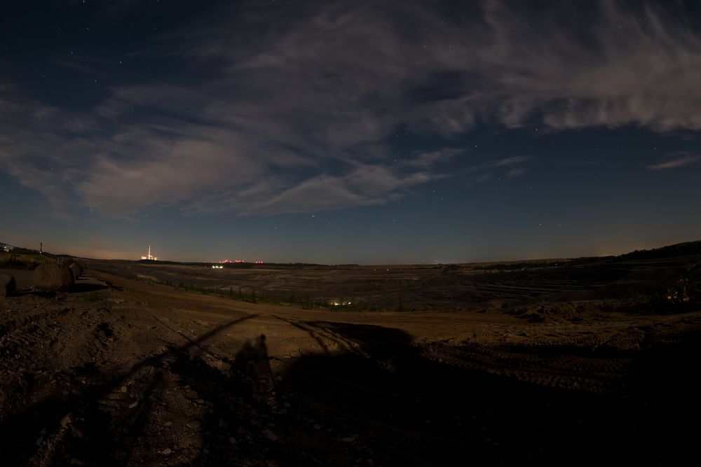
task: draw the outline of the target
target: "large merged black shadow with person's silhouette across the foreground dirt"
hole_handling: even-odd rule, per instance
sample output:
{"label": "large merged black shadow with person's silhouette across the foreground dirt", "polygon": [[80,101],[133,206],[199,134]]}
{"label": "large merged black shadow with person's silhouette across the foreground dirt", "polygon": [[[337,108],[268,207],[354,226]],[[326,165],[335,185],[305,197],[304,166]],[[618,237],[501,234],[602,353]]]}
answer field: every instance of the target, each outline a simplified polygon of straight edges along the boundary
{"label": "large merged black shadow with person's silhouette across the foreground dirt", "polygon": [[[265,335],[232,356],[217,355],[221,366],[212,365],[205,341],[254,316],[195,339],[183,336],[185,344],[104,383],[56,393],[4,418],[2,465],[29,463],[36,432],[61,430],[67,412],[82,415],[69,429],[85,435],[67,437],[45,463],[75,453],[91,465],[141,463],[139,439],[149,435],[149,414],[161,393],[173,390],[168,378],[207,409],[191,433],[201,440],[187,461],[195,466],[591,465],[602,458],[649,464],[674,463],[695,446],[694,431],[683,422],[701,415],[690,370],[701,357],[696,331],[681,344],[641,354],[614,391],[597,394],[511,377],[516,363],[498,372],[471,368],[450,348],[432,353],[431,345],[440,350],[442,343],[417,344],[403,330],[331,321],[283,320],[335,350],[290,358],[281,375],[273,372]],[[482,351],[496,355],[500,348]],[[74,381],[99,372],[83,365]],[[136,375],[144,384],[128,416],[104,410],[105,396]]]}

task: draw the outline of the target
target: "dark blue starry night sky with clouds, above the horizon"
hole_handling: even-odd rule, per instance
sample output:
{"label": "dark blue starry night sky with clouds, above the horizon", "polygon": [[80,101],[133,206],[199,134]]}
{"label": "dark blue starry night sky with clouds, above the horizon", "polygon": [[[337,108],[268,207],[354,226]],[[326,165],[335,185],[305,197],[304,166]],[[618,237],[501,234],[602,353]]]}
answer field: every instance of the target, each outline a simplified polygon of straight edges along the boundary
{"label": "dark blue starry night sky with clouds, above the horizon", "polygon": [[701,238],[701,4],[0,0],[0,242],[463,263]]}

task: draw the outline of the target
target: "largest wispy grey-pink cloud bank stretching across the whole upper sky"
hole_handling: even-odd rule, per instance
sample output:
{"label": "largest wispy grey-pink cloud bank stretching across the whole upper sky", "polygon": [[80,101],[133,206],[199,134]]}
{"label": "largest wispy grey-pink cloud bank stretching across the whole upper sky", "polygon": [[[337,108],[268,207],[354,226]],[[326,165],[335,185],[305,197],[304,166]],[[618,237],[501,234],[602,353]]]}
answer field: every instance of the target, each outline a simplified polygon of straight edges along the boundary
{"label": "largest wispy grey-pink cloud bank stretching across the whole upper sky", "polygon": [[[117,5],[115,18],[141,8]],[[267,215],[395,200],[445,176],[461,153],[396,163],[388,141],[399,127],[445,141],[477,119],[553,131],[701,129],[701,39],[660,4],[558,2],[543,15],[485,0],[460,18],[425,2],[312,2],[294,15],[251,4],[191,26],[130,55],[175,62],[177,73],[113,81],[89,108],[48,106],[0,82],[2,167],[57,210],[81,202],[108,216],[158,206]],[[515,177],[524,162],[474,169]]]}

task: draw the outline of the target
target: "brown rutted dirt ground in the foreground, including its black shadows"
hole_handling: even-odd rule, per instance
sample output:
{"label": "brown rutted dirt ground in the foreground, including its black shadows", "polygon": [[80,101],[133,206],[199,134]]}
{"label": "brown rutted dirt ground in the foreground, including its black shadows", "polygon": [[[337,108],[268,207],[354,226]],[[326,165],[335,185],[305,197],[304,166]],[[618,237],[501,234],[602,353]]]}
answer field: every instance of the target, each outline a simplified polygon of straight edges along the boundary
{"label": "brown rutted dirt ground in the foreground, including its black shadows", "polygon": [[700,337],[695,305],[333,312],[88,271],[0,300],[0,465],[676,465]]}

